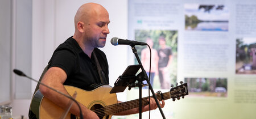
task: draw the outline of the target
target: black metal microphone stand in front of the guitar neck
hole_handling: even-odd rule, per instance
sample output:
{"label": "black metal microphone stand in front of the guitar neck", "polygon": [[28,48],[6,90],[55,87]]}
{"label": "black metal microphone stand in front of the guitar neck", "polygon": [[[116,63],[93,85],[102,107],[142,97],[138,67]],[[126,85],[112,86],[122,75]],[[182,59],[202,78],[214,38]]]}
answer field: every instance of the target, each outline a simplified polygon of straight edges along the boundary
{"label": "black metal microphone stand in front of the guitar neck", "polygon": [[[137,49],[135,48],[135,45],[131,45],[130,44],[130,46],[131,46],[131,49],[133,50],[133,53],[135,54],[135,57],[137,58],[137,61],[138,61],[139,65],[141,65],[141,70],[142,70],[142,72],[144,74],[144,79],[147,80],[148,87],[150,88],[150,91],[151,91],[151,93],[152,93],[152,95],[153,95],[153,97],[155,99],[155,102],[158,105],[158,109],[159,109],[160,113],[162,114],[162,117],[164,119],[166,119],[166,117],[164,116],[164,113],[162,111],[162,108],[160,107],[160,104],[158,102],[158,99],[155,96],[155,92],[154,92],[154,90],[153,90],[153,88],[152,88],[152,86],[150,84],[150,81],[148,80],[147,73],[146,73],[146,71],[144,70],[144,68],[142,66],[141,60],[139,59],[139,56],[138,56],[138,53],[137,53]],[[139,82],[139,118],[140,119],[142,118],[142,84],[143,84],[142,81],[143,80],[138,80],[138,82]]]}

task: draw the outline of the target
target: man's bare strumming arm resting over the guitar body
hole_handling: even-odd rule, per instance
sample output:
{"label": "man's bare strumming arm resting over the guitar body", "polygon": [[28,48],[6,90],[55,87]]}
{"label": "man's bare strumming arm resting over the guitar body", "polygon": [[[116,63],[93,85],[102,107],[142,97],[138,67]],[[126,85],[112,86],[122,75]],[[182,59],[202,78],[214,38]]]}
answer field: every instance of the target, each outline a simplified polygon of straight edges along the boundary
{"label": "man's bare strumming arm resting over the guitar body", "polygon": [[[63,92],[66,95],[69,95],[63,85],[66,79],[67,79],[67,74],[63,69],[60,69],[59,67],[51,67],[50,69],[48,69],[46,74],[44,74],[42,83],[46,84],[49,87],[55,88],[60,92]],[[42,92],[42,94],[45,97],[47,97],[47,99],[51,100],[53,103],[55,103],[59,107],[65,109],[68,106],[68,103],[69,103],[68,97],[60,95],[57,92],[52,91],[43,85],[40,85],[39,89],[40,89],[40,92]],[[84,118],[98,118],[96,113],[94,113],[93,111],[90,111],[84,105],[80,104],[80,107],[82,109],[82,114]],[[71,112],[72,114],[75,114],[76,116],[80,116],[79,107],[76,104],[72,105],[69,112]]]}

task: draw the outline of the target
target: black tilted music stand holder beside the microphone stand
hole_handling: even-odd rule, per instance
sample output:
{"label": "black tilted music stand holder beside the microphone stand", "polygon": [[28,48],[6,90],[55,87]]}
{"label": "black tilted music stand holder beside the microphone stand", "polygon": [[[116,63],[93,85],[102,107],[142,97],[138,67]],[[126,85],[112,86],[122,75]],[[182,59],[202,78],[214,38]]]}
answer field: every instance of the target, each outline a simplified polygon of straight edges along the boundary
{"label": "black tilted music stand holder beside the microphone stand", "polygon": [[130,84],[135,83],[137,80],[136,74],[138,73],[139,69],[141,69],[142,65],[129,65],[127,66],[126,70],[123,72],[121,76],[114,83],[114,87],[110,91],[110,94],[123,92],[125,88]]}

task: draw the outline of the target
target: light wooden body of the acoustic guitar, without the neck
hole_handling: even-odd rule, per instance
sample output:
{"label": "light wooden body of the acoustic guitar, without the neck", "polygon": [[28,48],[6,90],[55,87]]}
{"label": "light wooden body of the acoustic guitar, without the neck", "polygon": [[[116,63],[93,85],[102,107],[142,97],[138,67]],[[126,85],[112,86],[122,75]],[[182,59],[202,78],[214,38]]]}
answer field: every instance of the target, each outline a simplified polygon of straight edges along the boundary
{"label": "light wooden body of the acoustic guitar, without the neck", "polygon": [[[68,91],[69,95],[73,95],[76,91],[76,100],[91,110],[118,103],[116,94],[109,93],[110,90],[112,90],[112,87],[108,85],[98,87],[92,91],[81,90],[80,88],[76,88],[73,86],[65,86],[65,88]],[[32,98],[30,109],[31,112],[36,115],[36,118],[40,119],[60,118],[60,116],[64,113],[64,109],[58,107],[52,101],[45,98],[39,90]],[[100,118],[111,117],[112,115]],[[71,113],[68,113],[65,117],[65,119],[68,118],[71,118]]]}

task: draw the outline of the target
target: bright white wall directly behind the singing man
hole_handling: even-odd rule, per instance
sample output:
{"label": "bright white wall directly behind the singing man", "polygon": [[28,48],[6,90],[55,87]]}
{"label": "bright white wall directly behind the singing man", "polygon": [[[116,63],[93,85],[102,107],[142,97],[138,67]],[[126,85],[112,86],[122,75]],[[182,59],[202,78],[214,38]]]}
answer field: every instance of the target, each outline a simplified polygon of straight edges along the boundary
{"label": "bright white wall directly behind the singing man", "polygon": [[[75,30],[73,18],[77,9],[86,2],[100,3],[109,11],[109,30],[106,46],[102,50],[109,61],[110,85],[127,67],[127,46],[113,46],[110,39],[117,36],[127,39],[127,0],[123,1],[82,1],[82,0],[34,0],[32,1],[32,78],[40,75],[52,56],[53,50],[72,36]],[[31,93],[36,83],[32,82]],[[119,100],[125,100],[125,93],[118,94]],[[13,115],[28,117],[30,100],[15,100]]]}

